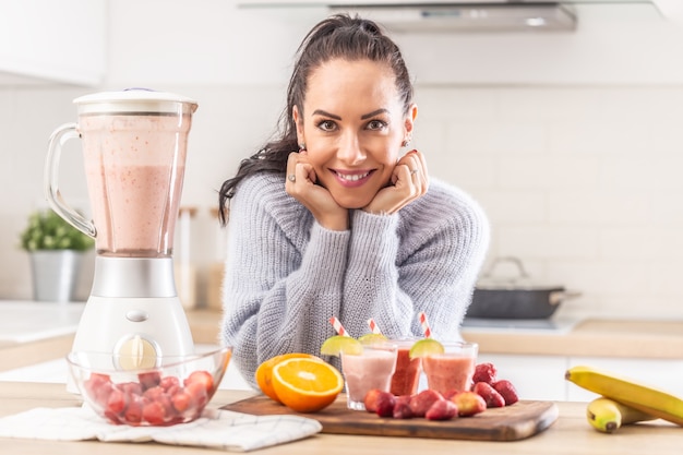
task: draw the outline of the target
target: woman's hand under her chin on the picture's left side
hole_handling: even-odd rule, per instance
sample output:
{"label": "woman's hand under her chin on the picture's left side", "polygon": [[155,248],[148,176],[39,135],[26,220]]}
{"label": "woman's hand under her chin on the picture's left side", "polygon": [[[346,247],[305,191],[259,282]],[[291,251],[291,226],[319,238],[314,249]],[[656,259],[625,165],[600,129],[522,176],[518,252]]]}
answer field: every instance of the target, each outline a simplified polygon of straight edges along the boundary
{"label": "woman's hand under her chin on the picture's left side", "polygon": [[331,230],[348,229],[348,209],[340,207],[329,191],[316,184],[317,178],[307,155],[305,151],[289,154],[285,190],[303,204],[324,228]]}

